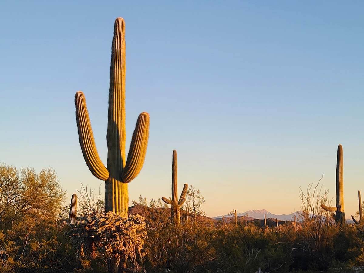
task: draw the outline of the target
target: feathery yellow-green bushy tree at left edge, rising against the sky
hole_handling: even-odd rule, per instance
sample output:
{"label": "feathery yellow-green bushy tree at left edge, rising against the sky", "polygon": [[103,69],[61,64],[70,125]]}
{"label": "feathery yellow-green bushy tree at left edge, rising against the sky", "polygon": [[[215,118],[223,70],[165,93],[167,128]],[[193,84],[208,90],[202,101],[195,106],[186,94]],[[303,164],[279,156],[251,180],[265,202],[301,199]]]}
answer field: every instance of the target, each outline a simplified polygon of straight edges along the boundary
{"label": "feathery yellow-green bushy tree at left edge, rising against the sky", "polygon": [[25,216],[56,219],[65,198],[54,170],[0,165],[0,229]]}

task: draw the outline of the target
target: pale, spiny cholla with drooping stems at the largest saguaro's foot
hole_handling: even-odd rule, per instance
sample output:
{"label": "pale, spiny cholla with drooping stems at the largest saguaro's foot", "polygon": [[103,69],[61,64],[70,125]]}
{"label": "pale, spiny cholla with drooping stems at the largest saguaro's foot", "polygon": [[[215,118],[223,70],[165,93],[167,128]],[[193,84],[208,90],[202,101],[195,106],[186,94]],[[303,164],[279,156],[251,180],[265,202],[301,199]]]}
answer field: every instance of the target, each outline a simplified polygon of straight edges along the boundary
{"label": "pale, spiny cholla with drooping stems at the largest saguaro's foot", "polygon": [[145,255],[142,249],[147,233],[140,215],[88,214],[75,221],[70,234],[80,257],[106,258],[109,272],[137,271],[138,261]]}

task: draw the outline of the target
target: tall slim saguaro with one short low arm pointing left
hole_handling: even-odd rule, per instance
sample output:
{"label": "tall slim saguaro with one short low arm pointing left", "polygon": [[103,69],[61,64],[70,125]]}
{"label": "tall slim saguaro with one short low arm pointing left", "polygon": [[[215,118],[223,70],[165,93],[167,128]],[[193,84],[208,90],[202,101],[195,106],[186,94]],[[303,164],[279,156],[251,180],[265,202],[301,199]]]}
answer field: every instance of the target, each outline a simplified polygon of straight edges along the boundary
{"label": "tall slim saguaro with one short low arm pointing left", "polygon": [[339,146],[337,146],[336,160],[336,207],[329,207],[321,204],[321,207],[326,211],[336,211],[334,217],[336,223],[345,223],[343,170],[343,146],[339,144]]}

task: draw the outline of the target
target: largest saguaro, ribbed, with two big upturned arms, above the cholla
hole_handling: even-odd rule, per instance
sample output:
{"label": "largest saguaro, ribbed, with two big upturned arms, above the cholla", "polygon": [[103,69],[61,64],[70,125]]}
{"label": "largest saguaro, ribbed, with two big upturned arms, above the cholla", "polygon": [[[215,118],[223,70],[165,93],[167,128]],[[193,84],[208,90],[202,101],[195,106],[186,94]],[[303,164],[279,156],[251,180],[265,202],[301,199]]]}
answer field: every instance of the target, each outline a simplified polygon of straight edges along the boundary
{"label": "largest saguaro, ribbed, with two big upturned arms, above the cholla", "polygon": [[142,169],[149,137],[149,114],[137,120],[125,160],[125,23],[117,18],[111,47],[110,88],[107,123],[107,167],[97,153],[84,94],[75,95],[76,121],[83,157],[96,178],[105,181],[105,210],[128,215],[128,183]]}

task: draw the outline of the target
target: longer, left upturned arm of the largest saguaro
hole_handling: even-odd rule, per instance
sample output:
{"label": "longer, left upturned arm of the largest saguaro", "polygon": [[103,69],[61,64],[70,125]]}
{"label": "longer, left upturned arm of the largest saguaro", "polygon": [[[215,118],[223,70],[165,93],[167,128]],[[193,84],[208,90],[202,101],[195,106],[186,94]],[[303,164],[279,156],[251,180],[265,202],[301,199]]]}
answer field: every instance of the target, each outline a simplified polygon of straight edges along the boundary
{"label": "longer, left upturned arm of the largest saguaro", "polygon": [[90,117],[88,116],[86,99],[81,91],[75,95],[76,106],[76,122],[78,128],[78,136],[81,145],[83,158],[96,178],[106,180],[109,172],[101,162],[99,154],[96,150],[94,134],[92,133]]}

